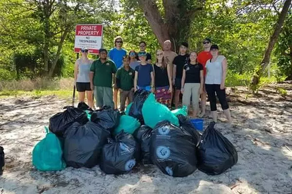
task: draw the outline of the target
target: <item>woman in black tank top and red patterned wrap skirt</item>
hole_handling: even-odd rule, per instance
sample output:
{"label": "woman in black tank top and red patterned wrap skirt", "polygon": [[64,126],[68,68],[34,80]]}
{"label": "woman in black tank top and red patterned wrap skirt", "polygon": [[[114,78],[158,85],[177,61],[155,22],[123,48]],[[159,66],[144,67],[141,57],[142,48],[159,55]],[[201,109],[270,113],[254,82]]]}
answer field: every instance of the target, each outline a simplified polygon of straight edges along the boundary
{"label": "woman in black tank top and red patterned wrap skirt", "polygon": [[154,67],[155,80],[155,98],[158,102],[171,106],[171,69],[170,65],[166,64],[164,60],[164,52],[162,50],[156,51],[156,63]]}

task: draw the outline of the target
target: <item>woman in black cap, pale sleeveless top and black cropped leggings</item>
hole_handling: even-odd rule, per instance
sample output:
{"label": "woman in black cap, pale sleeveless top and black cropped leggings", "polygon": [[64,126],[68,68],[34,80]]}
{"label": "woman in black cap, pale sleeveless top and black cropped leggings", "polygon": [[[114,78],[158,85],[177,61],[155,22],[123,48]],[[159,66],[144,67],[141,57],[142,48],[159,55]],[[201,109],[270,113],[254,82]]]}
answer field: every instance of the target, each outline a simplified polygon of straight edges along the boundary
{"label": "woman in black cap, pale sleeveless top and black cropped leggings", "polygon": [[212,45],[210,48],[210,52],[212,55],[212,59],[208,60],[206,63],[207,75],[205,80],[205,86],[210,100],[211,115],[213,117],[213,120],[216,122],[217,121],[216,95],[217,95],[221,107],[224,111],[224,114],[228,119],[228,123],[231,125],[232,118],[225,94],[227,61],[223,55],[219,55],[219,47],[217,45]]}

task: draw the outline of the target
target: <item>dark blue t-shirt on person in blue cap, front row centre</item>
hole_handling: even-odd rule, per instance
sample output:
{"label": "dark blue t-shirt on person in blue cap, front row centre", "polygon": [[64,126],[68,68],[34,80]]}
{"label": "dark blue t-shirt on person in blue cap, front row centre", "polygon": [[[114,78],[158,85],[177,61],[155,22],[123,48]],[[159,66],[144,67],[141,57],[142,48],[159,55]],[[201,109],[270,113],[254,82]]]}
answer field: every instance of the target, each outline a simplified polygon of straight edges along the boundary
{"label": "dark blue t-shirt on person in blue cap, front row centre", "polygon": [[145,87],[151,85],[151,72],[153,71],[153,67],[151,64],[146,65],[138,65],[135,68],[135,71],[138,72],[138,82],[137,85],[139,87]]}

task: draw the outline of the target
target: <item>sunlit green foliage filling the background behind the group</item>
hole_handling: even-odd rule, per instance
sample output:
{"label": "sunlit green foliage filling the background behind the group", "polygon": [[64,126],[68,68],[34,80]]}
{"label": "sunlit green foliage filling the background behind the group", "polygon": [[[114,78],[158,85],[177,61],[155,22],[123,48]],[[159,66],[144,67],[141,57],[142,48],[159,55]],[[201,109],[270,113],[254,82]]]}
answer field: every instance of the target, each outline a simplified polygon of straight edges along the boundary
{"label": "sunlit green foliage filling the background behind the group", "polygon": [[[35,79],[42,76],[45,68],[46,41],[49,41],[50,69],[56,57],[58,43],[66,29],[68,34],[62,45],[54,76],[73,77],[76,60],[76,54],[73,52],[74,26],[78,23],[104,24],[103,47],[106,49],[113,47],[113,39],[117,35],[124,38],[124,47],[128,51],[138,51],[138,43],[142,40],[146,41],[146,50],[152,56],[155,50],[161,49],[137,0],[120,0],[118,5],[112,3],[113,1],[104,3],[102,0],[50,1],[54,2],[52,6],[55,11],[47,20],[37,2],[39,1],[0,0],[1,80]],[[164,18],[163,0],[156,2]],[[186,10],[201,6],[198,0],[181,2],[185,2],[181,6],[185,6]],[[275,6],[271,6],[271,3]],[[282,5],[283,0],[205,0],[203,10],[196,12],[190,26],[185,26],[187,22],[178,22],[178,19],[173,21],[184,28],[179,37],[176,37],[176,41],[188,41],[189,50],[201,51],[202,39],[210,37],[212,43],[219,45],[220,53],[227,58],[229,70],[226,86],[249,86],[273,31],[276,11],[279,11]],[[183,16],[183,13],[181,15]],[[49,22],[49,33],[46,33],[46,21]],[[272,54],[271,78],[265,78],[268,77],[265,72],[259,87],[271,81],[292,79],[292,56],[289,55],[292,53],[291,48],[290,10]],[[96,58],[95,55],[90,57]],[[255,92],[258,89],[253,88]]]}

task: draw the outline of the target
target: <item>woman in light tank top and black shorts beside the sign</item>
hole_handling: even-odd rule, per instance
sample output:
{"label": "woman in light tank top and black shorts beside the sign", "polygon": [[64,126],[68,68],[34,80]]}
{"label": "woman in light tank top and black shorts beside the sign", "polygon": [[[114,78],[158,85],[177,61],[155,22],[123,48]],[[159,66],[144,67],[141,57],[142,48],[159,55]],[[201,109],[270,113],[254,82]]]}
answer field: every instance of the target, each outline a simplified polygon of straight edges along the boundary
{"label": "woman in light tank top and black shorts beside the sign", "polygon": [[93,109],[92,90],[90,86],[90,66],[92,60],[88,59],[88,49],[81,49],[81,58],[77,59],[74,67],[74,83],[78,92],[79,102],[84,102],[85,92],[88,105]]}

